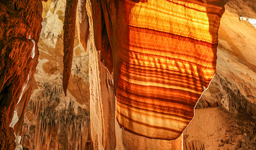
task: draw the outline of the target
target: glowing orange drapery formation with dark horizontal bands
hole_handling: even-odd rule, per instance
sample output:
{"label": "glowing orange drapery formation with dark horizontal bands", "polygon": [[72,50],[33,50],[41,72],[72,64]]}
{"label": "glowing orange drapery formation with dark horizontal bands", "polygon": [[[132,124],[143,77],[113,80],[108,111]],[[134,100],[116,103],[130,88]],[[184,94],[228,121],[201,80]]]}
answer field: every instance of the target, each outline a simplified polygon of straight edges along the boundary
{"label": "glowing orange drapery formation with dark horizontal bands", "polygon": [[91,0],[95,46],[113,71],[120,127],[176,139],[216,72],[224,7],[199,0],[138,2]]}

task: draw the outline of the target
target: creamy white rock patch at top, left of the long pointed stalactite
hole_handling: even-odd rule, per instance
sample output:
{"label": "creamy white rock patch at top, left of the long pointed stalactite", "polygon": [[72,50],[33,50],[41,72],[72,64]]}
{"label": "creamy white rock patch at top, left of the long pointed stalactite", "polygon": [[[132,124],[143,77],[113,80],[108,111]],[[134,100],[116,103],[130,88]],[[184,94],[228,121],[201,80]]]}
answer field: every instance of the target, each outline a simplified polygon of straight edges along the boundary
{"label": "creamy white rock patch at top, left of the long pointed stalactite", "polygon": [[58,36],[63,32],[65,6],[65,0],[52,1],[42,22],[40,37],[53,48],[55,48]]}

